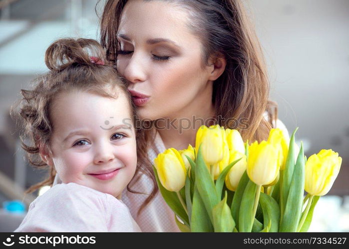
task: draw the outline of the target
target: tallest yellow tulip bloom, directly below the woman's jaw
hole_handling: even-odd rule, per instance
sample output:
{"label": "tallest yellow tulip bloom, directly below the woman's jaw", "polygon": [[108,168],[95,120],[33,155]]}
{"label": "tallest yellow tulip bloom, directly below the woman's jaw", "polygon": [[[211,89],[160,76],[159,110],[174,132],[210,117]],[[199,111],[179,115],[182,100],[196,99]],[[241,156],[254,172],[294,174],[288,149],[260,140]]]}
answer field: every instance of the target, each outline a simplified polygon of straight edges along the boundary
{"label": "tallest yellow tulip bloom, directly below the woman's jaw", "polygon": [[198,129],[195,140],[196,150],[199,150],[200,144],[204,161],[208,167],[220,162],[225,155],[225,149],[229,150],[225,130],[218,124],[210,127],[202,125]]}

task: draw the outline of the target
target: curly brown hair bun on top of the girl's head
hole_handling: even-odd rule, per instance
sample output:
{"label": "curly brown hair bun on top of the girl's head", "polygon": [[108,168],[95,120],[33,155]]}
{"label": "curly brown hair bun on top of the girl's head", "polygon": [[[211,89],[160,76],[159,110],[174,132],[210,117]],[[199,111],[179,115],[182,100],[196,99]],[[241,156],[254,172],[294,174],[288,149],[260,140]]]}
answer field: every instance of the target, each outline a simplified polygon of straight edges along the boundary
{"label": "curly brown hair bun on top of the girl's head", "polygon": [[104,50],[93,39],[59,39],[53,42],[45,53],[46,66],[57,72],[76,64],[104,65],[104,62]]}

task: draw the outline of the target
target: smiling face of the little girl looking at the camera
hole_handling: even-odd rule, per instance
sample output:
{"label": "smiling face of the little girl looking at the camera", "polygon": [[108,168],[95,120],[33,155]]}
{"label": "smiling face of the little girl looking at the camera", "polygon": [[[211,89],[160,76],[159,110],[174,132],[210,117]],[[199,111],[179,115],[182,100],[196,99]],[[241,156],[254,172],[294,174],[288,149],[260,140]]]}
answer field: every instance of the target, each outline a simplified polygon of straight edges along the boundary
{"label": "smiling face of the little girl looking at the camera", "polygon": [[137,163],[130,112],[123,94],[117,99],[80,91],[59,94],[50,110],[50,152],[41,158],[63,183],[119,196]]}

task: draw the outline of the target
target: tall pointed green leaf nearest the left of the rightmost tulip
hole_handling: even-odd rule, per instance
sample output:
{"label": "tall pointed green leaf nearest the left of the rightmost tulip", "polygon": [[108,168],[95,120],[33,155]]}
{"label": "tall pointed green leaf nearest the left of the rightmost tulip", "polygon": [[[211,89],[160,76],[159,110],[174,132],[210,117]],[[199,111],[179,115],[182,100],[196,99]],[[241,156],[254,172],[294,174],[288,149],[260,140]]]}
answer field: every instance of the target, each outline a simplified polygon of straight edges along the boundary
{"label": "tall pointed green leaf nearest the left of the rightmost tulip", "polygon": [[303,143],[301,143],[279,232],[297,232],[303,208],[304,184],[305,164]]}

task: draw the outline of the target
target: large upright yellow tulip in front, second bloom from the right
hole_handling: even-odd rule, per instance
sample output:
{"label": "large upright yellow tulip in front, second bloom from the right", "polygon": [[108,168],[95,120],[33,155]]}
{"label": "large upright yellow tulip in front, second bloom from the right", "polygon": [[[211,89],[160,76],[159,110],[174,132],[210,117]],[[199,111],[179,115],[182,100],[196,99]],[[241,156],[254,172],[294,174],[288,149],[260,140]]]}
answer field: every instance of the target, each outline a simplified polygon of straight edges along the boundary
{"label": "large upright yellow tulip in front, second bloom from the right", "polygon": [[280,165],[278,149],[270,142],[258,141],[249,146],[247,174],[257,185],[268,185],[278,176]]}

